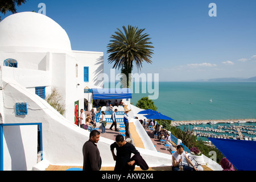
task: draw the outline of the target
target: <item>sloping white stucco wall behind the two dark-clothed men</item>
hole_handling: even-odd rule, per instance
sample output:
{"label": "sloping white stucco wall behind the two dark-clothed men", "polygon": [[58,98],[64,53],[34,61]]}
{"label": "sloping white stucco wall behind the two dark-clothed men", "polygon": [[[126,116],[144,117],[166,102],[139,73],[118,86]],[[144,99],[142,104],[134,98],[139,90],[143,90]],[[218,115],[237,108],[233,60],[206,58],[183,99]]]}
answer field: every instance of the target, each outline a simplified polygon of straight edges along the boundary
{"label": "sloping white stucco wall behind the two dark-clothed men", "polygon": [[[89,132],[70,123],[42,98],[29,92],[12,80],[0,92],[3,93],[5,102],[2,103],[5,113],[4,123],[42,123],[43,154],[49,164],[82,166],[82,146],[89,139]],[[27,102],[28,114],[15,115],[16,102]],[[98,148],[101,152],[102,166],[114,166],[110,152],[110,144],[114,141],[101,137]],[[170,155],[159,154],[150,150],[138,148],[143,158],[151,166],[170,164]],[[36,155],[36,154],[35,154]],[[154,156],[154,162],[152,162]]]}

